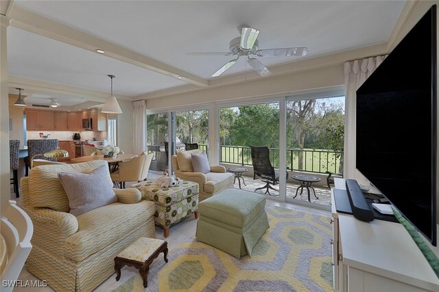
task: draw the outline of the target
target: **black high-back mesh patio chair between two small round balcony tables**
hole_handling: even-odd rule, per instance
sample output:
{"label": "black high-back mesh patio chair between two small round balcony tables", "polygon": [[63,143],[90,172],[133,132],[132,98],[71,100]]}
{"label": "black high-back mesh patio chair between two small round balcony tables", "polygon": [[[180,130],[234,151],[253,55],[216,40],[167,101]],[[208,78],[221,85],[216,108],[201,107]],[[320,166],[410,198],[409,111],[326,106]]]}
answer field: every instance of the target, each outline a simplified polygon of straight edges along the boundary
{"label": "black high-back mesh patio chair between two small round balcony tables", "polygon": [[[278,196],[270,194],[270,189],[279,191],[272,187],[272,185],[278,185],[279,183],[279,171],[275,170],[270,162],[270,151],[266,146],[250,146],[252,152],[252,164],[253,164],[253,179],[261,178],[261,181],[265,183],[263,187],[258,187],[254,191],[259,189],[266,189],[264,194],[270,196]],[[288,172],[285,172],[286,178],[288,178]]]}

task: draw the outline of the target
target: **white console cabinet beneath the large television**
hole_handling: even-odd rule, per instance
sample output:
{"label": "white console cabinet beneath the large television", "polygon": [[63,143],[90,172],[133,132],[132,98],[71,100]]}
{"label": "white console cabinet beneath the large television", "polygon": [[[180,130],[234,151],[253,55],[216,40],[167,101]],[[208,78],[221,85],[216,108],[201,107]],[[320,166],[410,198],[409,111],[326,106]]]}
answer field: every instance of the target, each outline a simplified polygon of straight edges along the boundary
{"label": "white console cabinet beneath the large television", "polygon": [[[344,180],[336,179],[335,188],[346,189]],[[401,224],[337,213],[333,198],[332,217],[335,291],[439,291],[438,277]]]}

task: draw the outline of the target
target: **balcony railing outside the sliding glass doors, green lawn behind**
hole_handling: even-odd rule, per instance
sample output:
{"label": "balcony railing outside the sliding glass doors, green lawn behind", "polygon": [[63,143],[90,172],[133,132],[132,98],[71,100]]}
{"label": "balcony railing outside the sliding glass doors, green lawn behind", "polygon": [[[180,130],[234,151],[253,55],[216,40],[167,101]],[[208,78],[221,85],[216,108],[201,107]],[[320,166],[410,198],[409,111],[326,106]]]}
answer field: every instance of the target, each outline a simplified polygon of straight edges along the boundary
{"label": "balcony railing outside the sliding glass doors, green lawn behind", "polygon": [[[270,148],[269,152],[272,165],[274,168],[278,168],[279,149]],[[288,170],[318,173],[330,171],[340,173],[340,161],[342,161],[342,158],[342,151],[287,149],[286,164]],[[219,162],[252,165],[250,147],[221,146]]]}

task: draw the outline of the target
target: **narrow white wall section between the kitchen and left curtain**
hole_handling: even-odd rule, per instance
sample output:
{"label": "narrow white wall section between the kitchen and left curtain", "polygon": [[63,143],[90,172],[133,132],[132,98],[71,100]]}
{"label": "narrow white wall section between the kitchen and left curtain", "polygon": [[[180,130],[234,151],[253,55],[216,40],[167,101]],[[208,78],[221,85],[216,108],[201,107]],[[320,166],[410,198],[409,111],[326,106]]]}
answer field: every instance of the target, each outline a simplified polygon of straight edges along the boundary
{"label": "narrow white wall section between the kitchen and left curtain", "polygon": [[117,115],[117,146],[119,146],[123,152],[133,153],[134,106],[132,105],[132,101],[118,99],[117,102],[123,113]]}

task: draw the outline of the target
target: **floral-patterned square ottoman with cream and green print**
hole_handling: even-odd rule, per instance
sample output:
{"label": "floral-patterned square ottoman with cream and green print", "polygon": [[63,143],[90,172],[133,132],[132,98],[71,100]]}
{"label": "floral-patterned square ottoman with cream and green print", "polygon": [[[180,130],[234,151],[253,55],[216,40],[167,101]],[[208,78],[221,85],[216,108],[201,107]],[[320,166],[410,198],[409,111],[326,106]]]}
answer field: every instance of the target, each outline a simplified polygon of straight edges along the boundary
{"label": "floral-patterned square ottoman with cream and green print", "polygon": [[131,187],[139,189],[143,200],[156,203],[154,222],[163,227],[164,237],[169,236],[169,226],[183,218],[195,214],[198,219],[198,183],[181,181],[176,187],[161,187],[155,181],[134,183]]}

